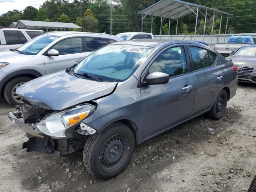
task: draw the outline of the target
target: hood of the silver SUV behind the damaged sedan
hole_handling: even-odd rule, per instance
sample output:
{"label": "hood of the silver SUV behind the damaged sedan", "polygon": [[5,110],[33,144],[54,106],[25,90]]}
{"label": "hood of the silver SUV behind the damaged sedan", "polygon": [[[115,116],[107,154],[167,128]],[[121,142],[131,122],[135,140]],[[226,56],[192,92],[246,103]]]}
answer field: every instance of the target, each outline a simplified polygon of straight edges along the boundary
{"label": "hood of the silver SUV behind the damaged sedan", "polygon": [[2,61],[2,62],[10,63],[15,60],[20,61],[21,59],[30,59],[32,57],[33,57],[33,55],[19,54],[19,53],[12,52],[9,50],[3,50],[0,52],[0,61]]}

